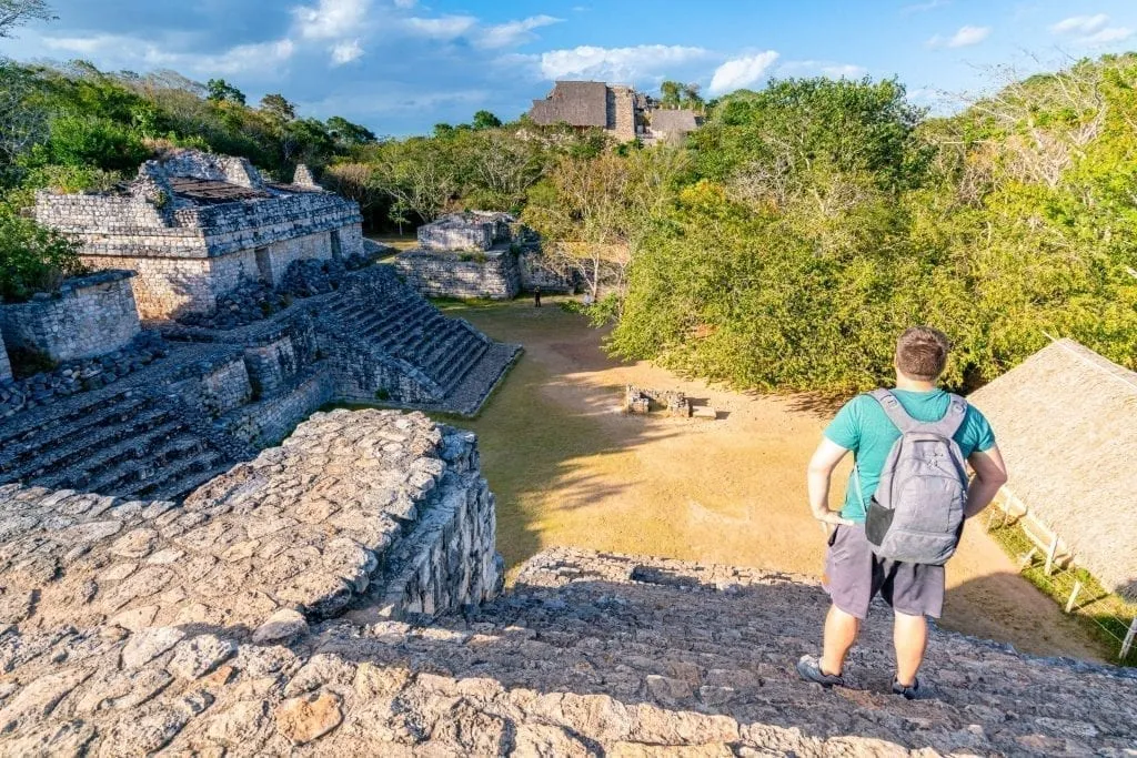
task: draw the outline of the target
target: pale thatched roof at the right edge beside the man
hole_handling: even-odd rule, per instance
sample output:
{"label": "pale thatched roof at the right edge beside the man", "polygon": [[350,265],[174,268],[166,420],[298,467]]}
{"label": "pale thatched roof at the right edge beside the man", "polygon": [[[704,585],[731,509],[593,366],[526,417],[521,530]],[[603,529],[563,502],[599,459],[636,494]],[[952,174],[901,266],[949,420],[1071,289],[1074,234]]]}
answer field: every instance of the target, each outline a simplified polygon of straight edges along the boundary
{"label": "pale thatched roof at the right edge beside the man", "polygon": [[1059,340],[969,399],[995,427],[1010,491],[1137,600],[1137,374]]}

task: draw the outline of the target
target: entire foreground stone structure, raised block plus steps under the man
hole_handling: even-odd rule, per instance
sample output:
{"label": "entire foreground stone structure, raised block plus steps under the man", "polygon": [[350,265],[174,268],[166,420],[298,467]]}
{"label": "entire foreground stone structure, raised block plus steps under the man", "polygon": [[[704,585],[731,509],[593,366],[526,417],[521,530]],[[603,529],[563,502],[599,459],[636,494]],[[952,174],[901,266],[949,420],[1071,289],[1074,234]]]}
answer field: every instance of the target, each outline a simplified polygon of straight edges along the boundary
{"label": "entire foreground stone structure, raised block plus steps under the man", "polygon": [[[472,435],[302,424],[182,506],[0,488],[0,756],[1123,756],[1131,669],[870,624],[823,691],[805,577],[553,549],[500,592]],[[874,614],[883,614],[882,606]],[[878,619],[882,620],[882,619]],[[910,750],[913,751],[910,753]]]}

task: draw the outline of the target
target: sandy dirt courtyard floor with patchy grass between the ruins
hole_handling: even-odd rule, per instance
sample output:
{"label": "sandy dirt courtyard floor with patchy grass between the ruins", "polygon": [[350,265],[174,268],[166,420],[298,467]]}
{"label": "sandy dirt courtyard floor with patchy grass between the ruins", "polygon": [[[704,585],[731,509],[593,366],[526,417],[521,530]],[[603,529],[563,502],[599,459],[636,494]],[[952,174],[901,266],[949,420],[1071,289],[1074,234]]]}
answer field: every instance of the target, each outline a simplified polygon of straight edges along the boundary
{"label": "sandy dirt courtyard floor with patchy grass between the ruins", "polygon": [[[820,575],[825,535],[808,514],[805,465],[831,408],[622,365],[601,351],[600,332],[550,299],[541,309],[524,300],[443,308],[525,347],[482,415],[456,422],[479,434],[509,566],[549,545],[578,545]],[[624,416],[629,383],[682,390],[719,419]],[[840,477],[833,502],[843,492]],[[948,565],[941,623],[1034,655],[1102,658],[980,522]]]}

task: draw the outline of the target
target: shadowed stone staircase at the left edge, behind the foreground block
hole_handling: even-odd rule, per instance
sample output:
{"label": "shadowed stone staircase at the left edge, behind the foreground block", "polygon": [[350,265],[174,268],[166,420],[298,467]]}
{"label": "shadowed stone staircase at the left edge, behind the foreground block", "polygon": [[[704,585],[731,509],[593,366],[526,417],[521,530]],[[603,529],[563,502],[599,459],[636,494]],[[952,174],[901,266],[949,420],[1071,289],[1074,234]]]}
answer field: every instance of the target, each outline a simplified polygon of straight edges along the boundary
{"label": "shadowed stone staircase at the left edge, behind the foreground block", "polygon": [[232,465],[189,416],[133,383],[24,414],[0,427],[0,483],[180,498]]}

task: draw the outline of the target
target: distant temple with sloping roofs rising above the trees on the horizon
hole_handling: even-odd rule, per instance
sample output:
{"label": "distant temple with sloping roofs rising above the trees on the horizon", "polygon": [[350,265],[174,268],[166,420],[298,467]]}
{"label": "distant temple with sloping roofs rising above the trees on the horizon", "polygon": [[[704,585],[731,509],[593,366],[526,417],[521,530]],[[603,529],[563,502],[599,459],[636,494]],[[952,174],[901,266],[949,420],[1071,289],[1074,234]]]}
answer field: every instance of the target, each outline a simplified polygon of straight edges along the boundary
{"label": "distant temple with sloping roofs rising above the trees on the horizon", "polygon": [[649,144],[681,141],[703,122],[694,110],[662,108],[631,86],[604,82],[557,82],[547,98],[533,100],[529,117],[539,126],[601,128],[621,142]]}

